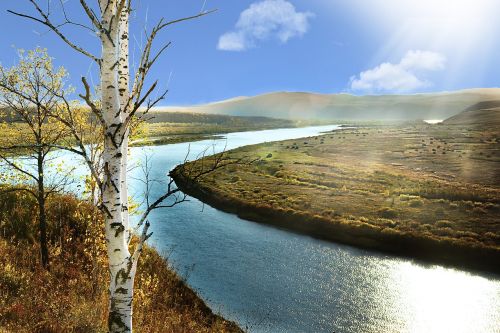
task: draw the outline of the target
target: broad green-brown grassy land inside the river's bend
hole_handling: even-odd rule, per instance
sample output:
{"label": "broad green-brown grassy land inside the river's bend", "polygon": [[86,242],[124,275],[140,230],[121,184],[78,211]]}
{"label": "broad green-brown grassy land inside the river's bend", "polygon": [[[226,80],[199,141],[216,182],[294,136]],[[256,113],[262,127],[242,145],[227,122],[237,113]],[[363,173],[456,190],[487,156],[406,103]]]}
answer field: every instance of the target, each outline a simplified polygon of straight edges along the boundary
{"label": "broad green-brown grassy land inside the river's bend", "polygon": [[498,131],[461,126],[375,126],[242,147],[189,194],[246,219],[315,237],[500,271]]}

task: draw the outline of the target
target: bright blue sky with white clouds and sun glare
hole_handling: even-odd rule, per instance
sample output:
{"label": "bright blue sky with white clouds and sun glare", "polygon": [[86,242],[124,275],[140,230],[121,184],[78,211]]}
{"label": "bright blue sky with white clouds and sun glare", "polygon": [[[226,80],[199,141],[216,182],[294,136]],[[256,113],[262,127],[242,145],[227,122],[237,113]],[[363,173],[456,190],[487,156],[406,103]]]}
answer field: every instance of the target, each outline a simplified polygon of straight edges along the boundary
{"label": "bright blue sky with white clouds and sun glare", "polygon": [[[38,0],[45,7],[47,0]],[[94,3],[96,0],[88,0]],[[61,0],[51,17],[64,19]],[[88,23],[78,0],[63,0],[66,15]],[[172,46],[150,80],[168,89],[164,105],[202,104],[272,91],[407,94],[499,87],[497,0],[134,0],[131,59],[144,29],[217,9],[172,26],[156,48]],[[7,12],[36,14],[28,0],[0,0],[0,63],[15,64],[17,49],[48,49],[70,83],[98,82],[95,65],[47,28]],[[78,45],[99,54],[90,31],[64,26]],[[133,66],[132,66],[133,67]]]}

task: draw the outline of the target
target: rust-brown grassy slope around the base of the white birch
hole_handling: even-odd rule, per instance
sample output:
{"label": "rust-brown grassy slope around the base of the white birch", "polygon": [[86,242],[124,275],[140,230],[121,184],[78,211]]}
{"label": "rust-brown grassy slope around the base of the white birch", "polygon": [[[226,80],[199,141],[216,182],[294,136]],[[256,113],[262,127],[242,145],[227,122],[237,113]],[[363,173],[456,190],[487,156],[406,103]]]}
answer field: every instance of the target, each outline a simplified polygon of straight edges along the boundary
{"label": "rust-brown grassy slope around the base of the white birch", "polygon": [[[102,218],[70,196],[50,200],[51,270],[39,264],[36,203],[0,195],[0,331],[106,332],[108,273]],[[241,332],[212,313],[154,249],[135,283],[136,332]]]}

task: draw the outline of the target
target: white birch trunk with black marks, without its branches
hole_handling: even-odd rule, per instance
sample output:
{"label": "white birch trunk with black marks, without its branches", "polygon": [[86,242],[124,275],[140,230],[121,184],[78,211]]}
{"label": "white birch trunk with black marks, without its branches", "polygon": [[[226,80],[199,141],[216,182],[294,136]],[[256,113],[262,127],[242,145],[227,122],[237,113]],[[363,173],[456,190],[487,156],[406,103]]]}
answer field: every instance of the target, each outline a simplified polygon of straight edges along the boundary
{"label": "white birch trunk with black marks, without its branches", "polygon": [[[128,21],[128,12],[127,15],[121,15],[121,13],[116,13],[116,8],[118,6],[115,3],[113,9],[108,7],[104,10],[103,24],[110,26],[110,31],[108,35],[101,37],[101,91],[105,121],[102,203],[106,211],[106,241],[110,271],[108,329],[112,333],[132,332],[133,277],[135,275],[132,270],[135,265],[133,265],[128,249],[126,190],[128,131],[125,128],[125,105],[122,104],[123,95],[128,91],[128,77],[120,73],[120,68],[124,67],[123,64],[128,63],[128,46],[124,47],[124,40],[122,40],[122,38],[128,39],[128,34],[126,32],[120,34],[124,25],[119,22]],[[128,22],[126,23],[128,25]]]}

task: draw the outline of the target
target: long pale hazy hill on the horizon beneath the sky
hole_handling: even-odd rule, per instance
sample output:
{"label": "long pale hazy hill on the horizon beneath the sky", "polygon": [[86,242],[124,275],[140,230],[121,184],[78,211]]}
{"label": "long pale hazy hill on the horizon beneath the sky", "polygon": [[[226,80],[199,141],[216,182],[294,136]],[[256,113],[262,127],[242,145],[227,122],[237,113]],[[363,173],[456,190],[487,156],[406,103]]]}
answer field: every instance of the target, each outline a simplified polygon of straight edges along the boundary
{"label": "long pale hazy hill on the horizon beneath the sky", "polygon": [[500,100],[500,89],[469,89],[415,95],[315,94],[275,92],[188,107],[162,107],[157,112],[197,112],[284,119],[415,120],[447,119],[470,105]]}

